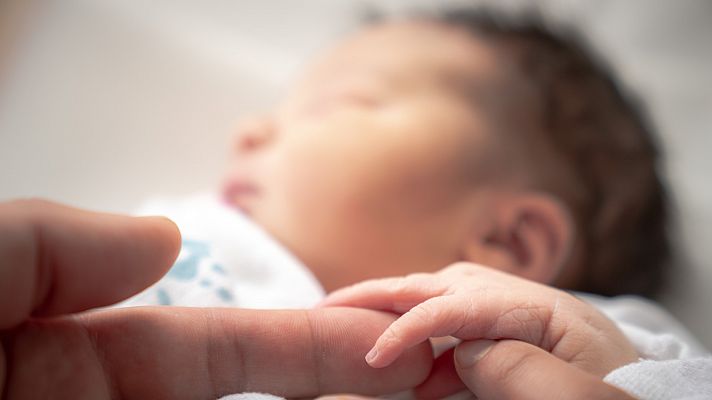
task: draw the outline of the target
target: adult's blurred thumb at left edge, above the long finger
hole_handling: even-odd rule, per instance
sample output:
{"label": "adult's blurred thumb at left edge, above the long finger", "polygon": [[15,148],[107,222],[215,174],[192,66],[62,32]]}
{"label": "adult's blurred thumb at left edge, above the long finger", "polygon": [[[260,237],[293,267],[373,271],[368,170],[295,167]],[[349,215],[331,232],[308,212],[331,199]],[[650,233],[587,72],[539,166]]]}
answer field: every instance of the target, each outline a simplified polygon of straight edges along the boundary
{"label": "adult's blurred thumb at left edge, above the long finger", "polygon": [[165,218],[0,203],[0,329],[123,300],[158,280],[179,249]]}

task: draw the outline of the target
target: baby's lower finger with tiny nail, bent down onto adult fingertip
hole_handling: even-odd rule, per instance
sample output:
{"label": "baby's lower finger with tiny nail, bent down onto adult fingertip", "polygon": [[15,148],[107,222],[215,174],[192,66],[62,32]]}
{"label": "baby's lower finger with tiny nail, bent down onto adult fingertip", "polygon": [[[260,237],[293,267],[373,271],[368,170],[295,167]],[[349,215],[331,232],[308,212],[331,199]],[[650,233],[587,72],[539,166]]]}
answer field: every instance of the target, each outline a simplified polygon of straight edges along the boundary
{"label": "baby's lower finger with tiny nail, bent down onto adult fingertip", "polygon": [[469,322],[468,300],[466,297],[440,296],[413,307],[383,332],[366,355],[366,362],[374,368],[383,368],[403,351],[428,338],[458,332]]}

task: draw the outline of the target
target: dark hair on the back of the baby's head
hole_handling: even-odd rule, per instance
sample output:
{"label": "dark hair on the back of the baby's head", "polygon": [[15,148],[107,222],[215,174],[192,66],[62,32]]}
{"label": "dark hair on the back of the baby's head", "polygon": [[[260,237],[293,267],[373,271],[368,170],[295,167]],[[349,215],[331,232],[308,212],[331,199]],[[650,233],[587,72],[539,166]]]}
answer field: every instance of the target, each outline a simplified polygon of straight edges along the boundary
{"label": "dark hair on the back of the baby's head", "polygon": [[[388,20],[369,17],[376,24]],[[408,19],[463,30],[491,47],[511,78],[500,102],[502,115],[514,121],[504,124],[506,133],[525,149],[542,139],[553,149],[518,156],[527,159],[528,170],[541,171],[535,189],[555,195],[572,213],[580,254],[566,267],[581,273],[567,288],[659,294],[670,242],[656,135],[641,102],[583,36],[572,27],[555,28],[535,10],[456,7]]]}

